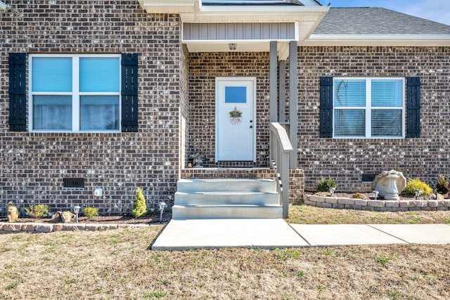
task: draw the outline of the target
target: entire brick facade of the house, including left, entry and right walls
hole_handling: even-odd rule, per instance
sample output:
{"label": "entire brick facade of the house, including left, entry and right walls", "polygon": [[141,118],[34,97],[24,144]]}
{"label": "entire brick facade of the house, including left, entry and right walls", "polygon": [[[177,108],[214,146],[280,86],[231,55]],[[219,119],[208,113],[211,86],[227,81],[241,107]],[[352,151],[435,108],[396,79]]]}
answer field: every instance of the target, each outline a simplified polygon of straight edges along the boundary
{"label": "entire brick facade of the house, including left, entry and right walls", "polygon": [[[51,211],[80,204],[123,214],[136,187],[150,205],[172,202],[180,169],[197,152],[205,167],[267,167],[269,53],[188,53],[180,30],[178,15],[148,14],[134,0],[8,4],[0,13],[1,202],[12,200],[21,209],[44,203]],[[9,53],[138,53],[139,132],[9,131]],[[314,190],[321,176],[331,176],[340,190],[362,191],[368,188],[362,174],[388,169],[430,185],[438,174],[450,175],[449,47],[299,47],[298,54],[298,167],[304,183],[303,172],[295,171],[295,186]],[[421,137],[319,138],[321,76],[420,77]],[[214,162],[216,77],[256,78],[256,163]],[[65,189],[63,178],[84,178],[85,188]],[[103,197],[94,198],[97,187]]]}

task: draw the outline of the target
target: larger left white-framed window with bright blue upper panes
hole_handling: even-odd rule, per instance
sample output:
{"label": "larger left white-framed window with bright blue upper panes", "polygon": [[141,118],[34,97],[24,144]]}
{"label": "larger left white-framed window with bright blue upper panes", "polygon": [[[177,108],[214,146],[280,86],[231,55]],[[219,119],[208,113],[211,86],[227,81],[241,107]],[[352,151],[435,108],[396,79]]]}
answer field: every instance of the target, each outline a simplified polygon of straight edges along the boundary
{"label": "larger left white-framed window with bright blue upper panes", "polygon": [[33,55],[32,131],[120,131],[119,55]]}

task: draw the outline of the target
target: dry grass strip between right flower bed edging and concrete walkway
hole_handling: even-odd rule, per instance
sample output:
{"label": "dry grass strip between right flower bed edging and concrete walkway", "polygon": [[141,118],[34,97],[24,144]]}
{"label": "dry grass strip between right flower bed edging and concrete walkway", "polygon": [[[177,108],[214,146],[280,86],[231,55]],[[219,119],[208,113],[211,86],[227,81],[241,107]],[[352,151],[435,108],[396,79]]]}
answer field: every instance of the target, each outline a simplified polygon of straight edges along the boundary
{"label": "dry grass strip between right flower bed edging and concrete walkway", "polygon": [[290,205],[288,223],[295,224],[428,224],[450,223],[450,211],[359,211]]}

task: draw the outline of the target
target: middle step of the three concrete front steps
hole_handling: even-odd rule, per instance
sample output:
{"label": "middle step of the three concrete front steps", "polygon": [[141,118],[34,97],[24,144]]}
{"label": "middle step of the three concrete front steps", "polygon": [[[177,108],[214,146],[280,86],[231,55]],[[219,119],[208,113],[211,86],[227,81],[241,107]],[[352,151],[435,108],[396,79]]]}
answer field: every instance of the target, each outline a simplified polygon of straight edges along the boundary
{"label": "middle step of the three concrete front steps", "polygon": [[176,205],[277,205],[280,203],[276,192],[176,192]]}

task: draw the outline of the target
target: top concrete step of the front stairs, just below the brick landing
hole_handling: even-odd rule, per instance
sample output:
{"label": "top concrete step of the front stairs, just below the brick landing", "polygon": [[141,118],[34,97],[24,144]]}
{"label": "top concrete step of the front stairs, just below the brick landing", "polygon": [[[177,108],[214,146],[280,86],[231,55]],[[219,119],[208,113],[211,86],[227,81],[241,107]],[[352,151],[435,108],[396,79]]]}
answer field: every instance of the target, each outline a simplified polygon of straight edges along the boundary
{"label": "top concrete step of the front stairs, just below the brick landing", "polygon": [[271,179],[181,179],[176,183],[179,192],[276,192]]}

